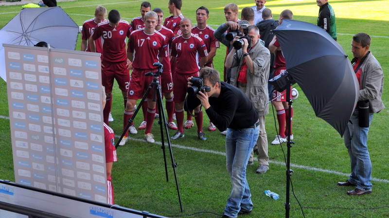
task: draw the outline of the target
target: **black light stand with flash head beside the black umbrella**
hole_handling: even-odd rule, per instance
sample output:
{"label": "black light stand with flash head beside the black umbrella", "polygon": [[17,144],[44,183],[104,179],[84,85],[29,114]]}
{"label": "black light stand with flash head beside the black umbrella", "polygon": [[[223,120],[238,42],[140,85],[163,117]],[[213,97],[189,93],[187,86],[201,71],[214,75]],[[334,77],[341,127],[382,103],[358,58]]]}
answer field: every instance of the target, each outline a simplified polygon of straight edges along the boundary
{"label": "black light stand with flash head beside the black umbrella", "polygon": [[284,73],[281,73],[278,76],[275,76],[273,79],[269,80],[269,83],[274,85],[274,88],[277,91],[284,91],[286,90],[286,101],[288,102],[289,110],[288,110],[288,121],[286,122],[286,128],[288,129],[288,136],[287,136],[287,152],[286,152],[286,202],[285,202],[285,218],[289,218],[289,211],[290,211],[290,177],[292,176],[293,170],[290,169],[290,148],[292,147],[292,144],[295,144],[293,141],[290,141],[290,126],[291,126],[291,119],[290,116],[292,115],[292,100],[290,99],[290,86],[295,84],[296,82],[293,80],[292,76],[285,71]]}

